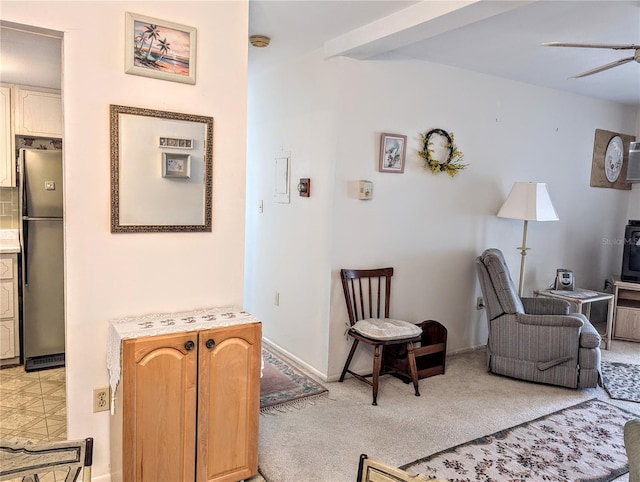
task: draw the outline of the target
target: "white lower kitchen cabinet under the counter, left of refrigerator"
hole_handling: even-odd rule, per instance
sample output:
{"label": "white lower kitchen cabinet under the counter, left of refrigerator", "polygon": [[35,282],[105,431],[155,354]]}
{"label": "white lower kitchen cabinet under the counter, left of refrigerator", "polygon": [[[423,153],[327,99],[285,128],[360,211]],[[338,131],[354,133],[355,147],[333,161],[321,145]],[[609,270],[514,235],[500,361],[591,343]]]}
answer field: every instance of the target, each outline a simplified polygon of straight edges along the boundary
{"label": "white lower kitchen cabinet under the counter, left of refrigerator", "polygon": [[0,360],[20,355],[18,338],[18,255],[0,255]]}

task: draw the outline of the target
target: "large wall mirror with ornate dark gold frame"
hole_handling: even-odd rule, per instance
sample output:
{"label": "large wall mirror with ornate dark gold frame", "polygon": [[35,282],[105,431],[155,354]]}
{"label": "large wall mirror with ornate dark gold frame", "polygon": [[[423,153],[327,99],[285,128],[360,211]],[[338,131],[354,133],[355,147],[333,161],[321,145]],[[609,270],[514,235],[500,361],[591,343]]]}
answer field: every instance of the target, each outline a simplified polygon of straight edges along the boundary
{"label": "large wall mirror with ornate dark gold frame", "polygon": [[111,232],[211,232],[213,117],[110,106]]}

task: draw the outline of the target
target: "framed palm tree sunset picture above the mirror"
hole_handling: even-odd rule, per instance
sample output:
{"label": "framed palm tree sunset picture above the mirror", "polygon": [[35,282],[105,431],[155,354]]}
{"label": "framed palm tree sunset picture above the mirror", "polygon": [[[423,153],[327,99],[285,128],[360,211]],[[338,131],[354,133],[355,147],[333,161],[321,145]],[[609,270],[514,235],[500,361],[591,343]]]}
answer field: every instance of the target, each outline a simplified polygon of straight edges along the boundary
{"label": "framed palm tree sunset picture above the mirror", "polygon": [[196,29],[125,13],[125,72],[196,83]]}

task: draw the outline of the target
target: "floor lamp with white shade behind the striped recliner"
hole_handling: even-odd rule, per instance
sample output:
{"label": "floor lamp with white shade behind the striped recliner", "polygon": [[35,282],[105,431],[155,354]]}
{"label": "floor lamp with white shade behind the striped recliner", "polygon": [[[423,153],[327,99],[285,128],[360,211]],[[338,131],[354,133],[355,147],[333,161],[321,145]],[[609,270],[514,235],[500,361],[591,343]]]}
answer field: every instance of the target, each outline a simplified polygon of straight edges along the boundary
{"label": "floor lamp with white shade behind the striped recliner", "polygon": [[524,221],[522,232],[522,246],[518,249],[520,259],[520,284],[518,296],[523,296],[524,258],[527,255],[527,224],[529,221],[558,221],[556,210],[551,204],[547,185],[544,182],[516,182],[511,188],[507,200],[500,211],[499,218],[521,219]]}

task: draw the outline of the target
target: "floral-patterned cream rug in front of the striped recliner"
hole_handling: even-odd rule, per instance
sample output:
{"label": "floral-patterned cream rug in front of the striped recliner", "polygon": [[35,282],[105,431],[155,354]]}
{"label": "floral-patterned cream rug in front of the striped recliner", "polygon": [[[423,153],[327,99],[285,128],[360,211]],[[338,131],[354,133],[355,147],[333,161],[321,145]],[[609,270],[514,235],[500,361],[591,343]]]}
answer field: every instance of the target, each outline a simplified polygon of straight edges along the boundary
{"label": "floral-patterned cream rug in front of the striped recliner", "polygon": [[606,482],[629,471],[623,429],[634,417],[593,399],[400,468],[459,482]]}

